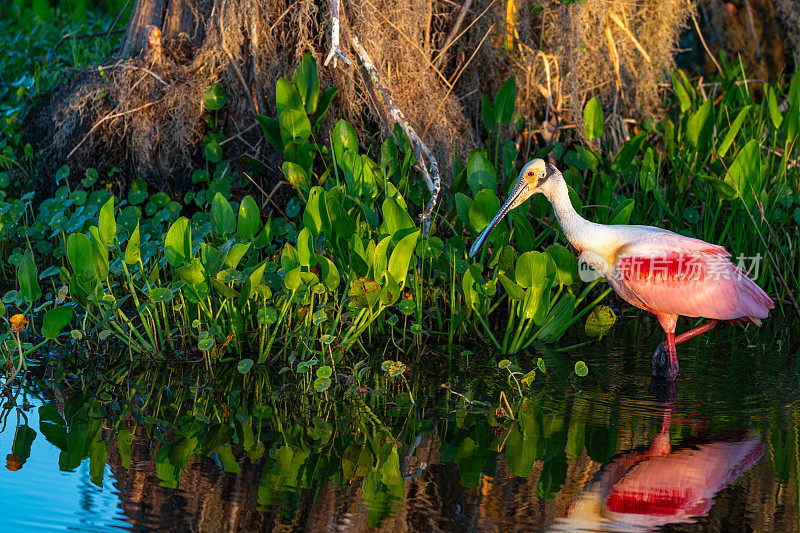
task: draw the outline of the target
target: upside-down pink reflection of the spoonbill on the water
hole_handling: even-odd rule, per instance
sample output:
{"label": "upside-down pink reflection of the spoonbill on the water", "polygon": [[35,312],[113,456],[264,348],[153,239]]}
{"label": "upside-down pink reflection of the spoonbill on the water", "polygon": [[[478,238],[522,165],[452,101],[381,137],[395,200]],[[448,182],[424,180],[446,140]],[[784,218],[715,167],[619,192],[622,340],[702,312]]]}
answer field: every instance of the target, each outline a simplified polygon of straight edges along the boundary
{"label": "upside-down pink reflection of the spoonbill on the water", "polygon": [[653,531],[694,522],[708,514],[719,491],[764,455],[752,433],[673,447],[673,405],[666,403],[650,447],[623,452],[604,465],[549,531]]}

